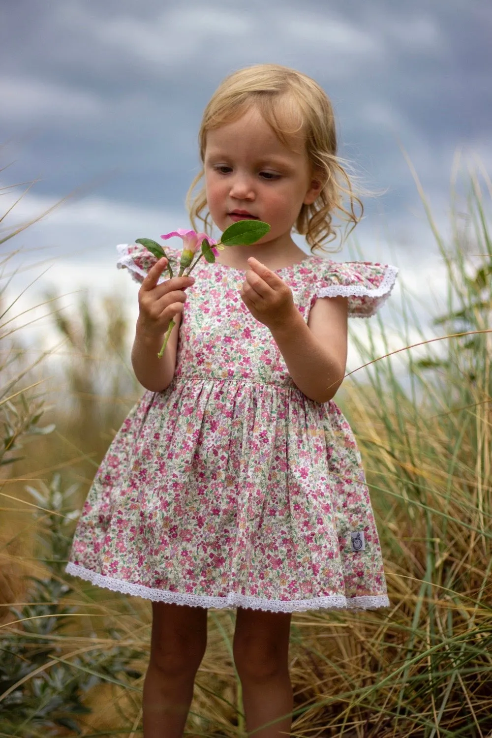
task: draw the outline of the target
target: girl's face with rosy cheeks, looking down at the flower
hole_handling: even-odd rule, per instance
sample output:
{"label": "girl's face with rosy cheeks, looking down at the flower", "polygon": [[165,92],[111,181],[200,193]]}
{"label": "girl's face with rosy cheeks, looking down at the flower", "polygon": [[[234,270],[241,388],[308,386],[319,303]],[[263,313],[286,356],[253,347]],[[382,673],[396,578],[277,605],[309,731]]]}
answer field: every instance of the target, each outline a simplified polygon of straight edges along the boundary
{"label": "girl's face with rosy cheeks, looking down at the flower", "polygon": [[258,244],[293,243],[291,229],[302,204],[316,199],[320,185],[312,179],[302,134],[291,137],[289,144],[287,148],[280,142],[255,108],[208,131],[207,205],[221,231],[240,219],[257,218],[271,227]]}

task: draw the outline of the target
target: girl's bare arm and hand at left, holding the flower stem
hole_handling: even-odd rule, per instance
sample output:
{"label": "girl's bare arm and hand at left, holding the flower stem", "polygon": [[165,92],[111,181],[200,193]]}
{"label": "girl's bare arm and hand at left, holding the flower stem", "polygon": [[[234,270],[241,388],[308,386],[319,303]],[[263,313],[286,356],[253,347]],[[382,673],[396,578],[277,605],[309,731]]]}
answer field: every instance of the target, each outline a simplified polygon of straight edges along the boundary
{"label": "girl's bare arm and hand at left, holding the flower stem", "polygon": [[[151,392],[162,392],[173,379],[176,369],[179,324],[186,293],[184,290],[195,281],[193,277],[173,277],[158,284],[167,266],[167,259],[159,259],[149,269],[139,289],[139,317],[136,321],[131,363],[136,379]],[[164,342],[164,335],[171,318],[176,325],[171,331],[162,359],[157,354]]]}

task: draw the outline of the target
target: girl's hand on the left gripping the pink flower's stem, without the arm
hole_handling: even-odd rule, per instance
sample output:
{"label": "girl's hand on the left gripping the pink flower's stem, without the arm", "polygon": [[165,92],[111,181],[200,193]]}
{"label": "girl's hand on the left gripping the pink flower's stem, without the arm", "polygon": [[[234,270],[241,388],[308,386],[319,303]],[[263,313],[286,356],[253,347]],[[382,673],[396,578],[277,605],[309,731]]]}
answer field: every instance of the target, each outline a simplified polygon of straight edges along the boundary
{"label": "girl's hand on the left gripping the pink flower's stem, without the arm", "polygon": [[193,277],[173,277],[157,284],[167,269],[167,259],[159,259],[148,271],[139,289],[139,329],[145,334],[163,336],[171,318],[183,311],[187,298],[184,290],[190,287]]}

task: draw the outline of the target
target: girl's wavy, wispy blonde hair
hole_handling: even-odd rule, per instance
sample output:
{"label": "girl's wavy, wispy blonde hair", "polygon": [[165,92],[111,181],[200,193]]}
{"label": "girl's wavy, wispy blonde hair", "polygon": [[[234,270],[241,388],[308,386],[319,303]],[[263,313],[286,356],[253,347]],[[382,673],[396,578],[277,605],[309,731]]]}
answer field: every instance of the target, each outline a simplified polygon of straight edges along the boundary
{"label": "girl's wavy, wispy blonde hair", "polygon": [[[288,103],[279,105],[279,103]],[[322,243],[336,238],[336,228],[332,223],[334,211],[339,217],[352,224],[349,233],[356,227],[364,213],[364,206],[354,192],[347,172],[342,167],[342,159],[336,156],[336,128],[333,108],[322,88],[307,75],[279,64],[255,64],[240,69],[226,77],[204,110],[198,134],[201,163],[204,163],[207,145],[207,131],[220,128],[226,123],[238,120],[249,109],[255,107],[274,133],[288,145],[288,134],[303,131],[305,151],[311,165],[313,176],[321,179],[322,189],[316,200],[303,204],[297,216],[295,230],[305,235],[311,252],[324,251]],[[292,114],[299,120],[294,130],[288,129],[285,119],[292,120]],[[280,118],[283,120],[281,121]],[[344,162],[346,165],[346,162]],[[347,165],[346,165],[347,166]],[[187,208],[190,221],[195,230],[196,218],[204,223],[204,231],[211,234],[210,213],[207,208],[205,187],[193,196],[193,190],[204,176],[204,169],[195,176],[187,193]],[[344,196],[348,196],[348,209],[344,207]],[[355,205],[360,207],[357,215]],[[344,236],[348,235],[347,229]]]}

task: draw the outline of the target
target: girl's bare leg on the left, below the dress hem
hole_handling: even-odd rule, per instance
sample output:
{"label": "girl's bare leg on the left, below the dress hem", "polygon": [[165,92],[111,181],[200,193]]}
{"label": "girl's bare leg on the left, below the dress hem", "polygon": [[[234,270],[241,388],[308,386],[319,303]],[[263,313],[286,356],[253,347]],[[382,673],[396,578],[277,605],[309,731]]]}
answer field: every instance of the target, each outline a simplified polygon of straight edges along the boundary
{"label": "girl's bare leg on the left, below the dress hem", "polygon": [[152,612],[142,703],[144,738],[181,738],[207,647],[207,609],[153,602]]}

